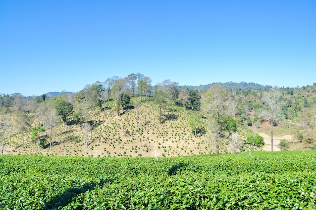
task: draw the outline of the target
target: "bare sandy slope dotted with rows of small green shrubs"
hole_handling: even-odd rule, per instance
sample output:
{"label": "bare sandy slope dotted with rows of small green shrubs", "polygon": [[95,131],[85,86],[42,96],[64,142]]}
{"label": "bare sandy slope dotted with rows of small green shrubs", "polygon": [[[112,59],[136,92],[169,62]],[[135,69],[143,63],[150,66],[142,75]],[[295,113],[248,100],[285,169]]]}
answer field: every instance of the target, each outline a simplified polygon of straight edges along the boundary
{"label": "bare sandy slope dotted with rows of small green shrubs", "polygon": [[[113,110],[105,110],[90,121],[88,147],[80,124],[70,122],[69,125],[59,124],[54,128],[51,148],[47,141],[44,149],[38,151],[29,134],[24,149],[21,139],[12,137],[11,143],[5,147],[5,154],[62,156],[64,149],[66,156],[90,157],[153,157],[155,153],[159,157],[176,157],[215,153],[209,134],[195,137],[192,133],[188,124],[193,114],[190,110],[184,113],[182,107],[170,106],[165,110],[162,124],[159,123],[159,114],[152,101],[142,103],[139,110],[139,131],[134,108],[122,111],[120,116]],[[48,137],[49,130],[42,135]],[[226,151],[226,145],[223,144],[221,152]]]}

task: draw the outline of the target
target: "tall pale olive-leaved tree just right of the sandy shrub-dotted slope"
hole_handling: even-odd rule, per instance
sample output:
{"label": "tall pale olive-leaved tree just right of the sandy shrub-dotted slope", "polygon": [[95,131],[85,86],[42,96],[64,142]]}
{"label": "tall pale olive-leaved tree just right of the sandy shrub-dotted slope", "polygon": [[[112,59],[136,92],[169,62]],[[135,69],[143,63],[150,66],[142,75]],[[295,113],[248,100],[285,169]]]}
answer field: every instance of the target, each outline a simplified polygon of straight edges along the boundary
{"label": "tall pale olive-leaved tree just right of the sandy shrub-dotted slope", "polygon": [[201,98],[203,111],[211,116],[210,125],[215,133],[217,153],[219,153],[220,144],[220,117],[225,115],[226,101],[228,99],[227,90],[218,83],[210,86],[209,90],[205,91]]}

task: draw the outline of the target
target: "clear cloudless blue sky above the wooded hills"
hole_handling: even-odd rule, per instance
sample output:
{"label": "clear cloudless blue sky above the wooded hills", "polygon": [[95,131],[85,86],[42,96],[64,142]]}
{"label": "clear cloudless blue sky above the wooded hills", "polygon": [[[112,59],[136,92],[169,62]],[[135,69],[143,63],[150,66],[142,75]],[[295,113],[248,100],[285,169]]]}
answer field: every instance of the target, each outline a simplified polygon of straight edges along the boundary
{"label": "clear cloudless blue sky above the wooded hills", "polygon": [[0,93],[138,72],[152,85],[312,85],[316,1],[0,0]]}

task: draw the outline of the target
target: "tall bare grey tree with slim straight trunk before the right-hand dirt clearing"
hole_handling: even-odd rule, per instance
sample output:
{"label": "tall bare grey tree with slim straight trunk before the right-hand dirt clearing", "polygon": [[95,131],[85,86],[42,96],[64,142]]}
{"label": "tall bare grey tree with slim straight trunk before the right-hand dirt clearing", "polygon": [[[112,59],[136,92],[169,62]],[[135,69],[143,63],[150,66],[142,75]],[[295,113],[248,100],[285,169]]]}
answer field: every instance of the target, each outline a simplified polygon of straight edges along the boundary
{"label": "tall bare grey tree with slim straight trunk before the right-hand dirt clearing", "polygon": [[278,102],[279,93],[273,89],[270,92],[265,92],[262,97],[266,105],[266,110],[260,113],[260,117],[267,119],[271,124],[271,151],[273,151],[273,126],[274,123],[283,119],[283,114]]}

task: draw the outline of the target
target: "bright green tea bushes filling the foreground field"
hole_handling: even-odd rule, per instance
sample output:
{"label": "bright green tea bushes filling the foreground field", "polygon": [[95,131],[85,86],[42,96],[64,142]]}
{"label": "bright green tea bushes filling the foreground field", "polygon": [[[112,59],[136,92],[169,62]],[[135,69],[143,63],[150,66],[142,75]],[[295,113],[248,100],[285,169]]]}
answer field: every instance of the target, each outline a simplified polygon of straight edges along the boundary
{"label": "bright green tea bushes filling the foreground field", "polygon": [[316,151],[0,156],[1,209],[315,209]]}

